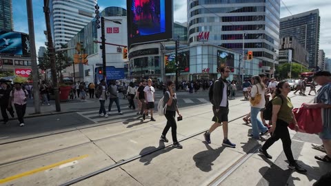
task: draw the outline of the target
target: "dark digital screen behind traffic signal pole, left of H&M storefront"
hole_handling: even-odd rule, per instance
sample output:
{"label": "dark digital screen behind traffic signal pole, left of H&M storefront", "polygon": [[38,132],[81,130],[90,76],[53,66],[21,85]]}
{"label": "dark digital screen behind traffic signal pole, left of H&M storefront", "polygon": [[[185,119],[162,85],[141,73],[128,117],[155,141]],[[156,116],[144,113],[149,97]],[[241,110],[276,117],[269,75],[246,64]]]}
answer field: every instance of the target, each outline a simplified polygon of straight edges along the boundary
{"label": "dark digital screen behind traffic signal pole, left of H&M storefront", "polygon": [[[174,54],[165,55],[165,73],[176,72],[176,64],[174,63]],[[178,53],[178,70],[179,72],[190,72],[190,51]]]}

